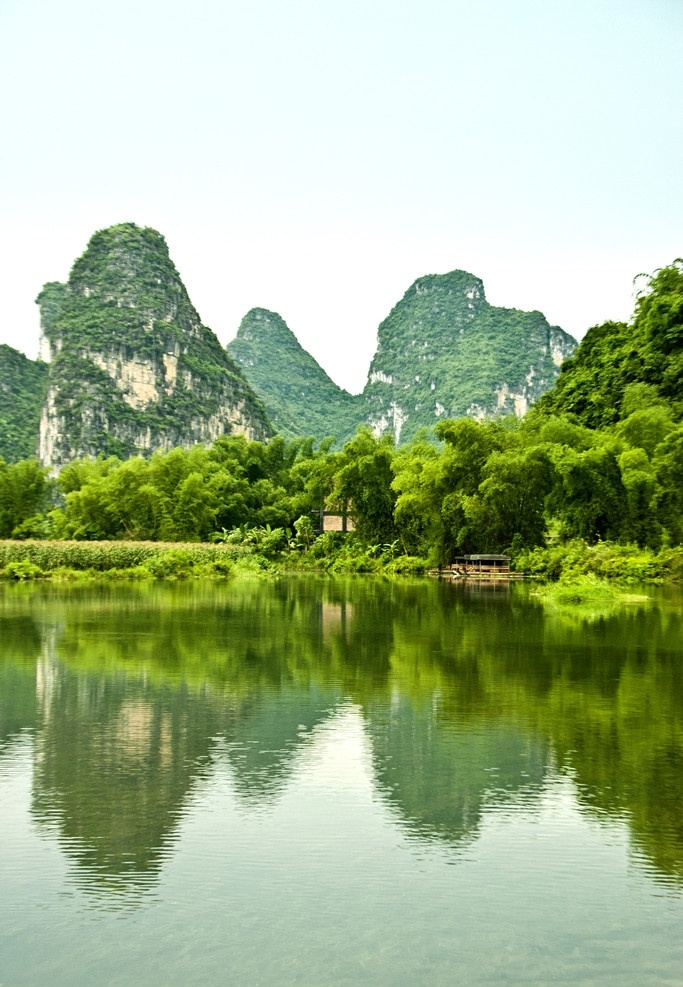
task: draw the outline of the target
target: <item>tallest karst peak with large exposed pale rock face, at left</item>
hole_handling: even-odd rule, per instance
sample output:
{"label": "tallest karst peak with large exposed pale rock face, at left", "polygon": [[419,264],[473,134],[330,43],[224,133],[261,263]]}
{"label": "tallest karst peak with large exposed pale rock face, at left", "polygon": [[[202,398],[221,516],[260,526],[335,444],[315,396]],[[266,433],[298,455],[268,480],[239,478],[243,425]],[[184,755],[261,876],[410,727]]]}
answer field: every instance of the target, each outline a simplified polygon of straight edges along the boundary
{"label": "tallest karst peak with large exposed pale rock face, at left", "polygon": [[265,439],[265,410],[202,325],[164,238],[124,223],[96,233],[66,285],[38,296],[50,360],[39,454],[127,457],[226,432]]}

